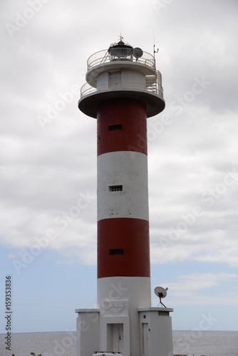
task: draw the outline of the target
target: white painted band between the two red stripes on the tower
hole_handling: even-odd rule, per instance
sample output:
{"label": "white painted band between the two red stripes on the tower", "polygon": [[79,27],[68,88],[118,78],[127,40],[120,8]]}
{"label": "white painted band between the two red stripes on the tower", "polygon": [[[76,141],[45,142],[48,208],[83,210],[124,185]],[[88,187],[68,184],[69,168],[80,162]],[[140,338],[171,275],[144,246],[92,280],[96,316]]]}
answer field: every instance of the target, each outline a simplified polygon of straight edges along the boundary
{"label": "white painted band between the two red stripes on the tower", "polygon": [[[123,192],[110,192],[111,185],[123,185]],[[149,219],[147,155],[120,151],[98,156],[98,221],[110,218]]]}

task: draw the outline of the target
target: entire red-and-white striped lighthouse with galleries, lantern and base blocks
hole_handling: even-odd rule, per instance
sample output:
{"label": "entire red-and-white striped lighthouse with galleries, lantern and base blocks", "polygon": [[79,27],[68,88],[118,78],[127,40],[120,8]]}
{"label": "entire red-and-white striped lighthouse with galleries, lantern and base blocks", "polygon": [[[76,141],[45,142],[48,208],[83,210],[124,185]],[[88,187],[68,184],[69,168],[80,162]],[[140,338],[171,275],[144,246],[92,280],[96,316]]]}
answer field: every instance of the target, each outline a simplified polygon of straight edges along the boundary
{"label": "entire red-and-white striped lighthouse with galleries, lantern and base blocks", "polygon": [[77,309],[77,356],[172,356],[171,308],[152,308],[147,117],[162,112],[155,57],[122,38],[88,58],[78,108],[97,119],[98,308]]}

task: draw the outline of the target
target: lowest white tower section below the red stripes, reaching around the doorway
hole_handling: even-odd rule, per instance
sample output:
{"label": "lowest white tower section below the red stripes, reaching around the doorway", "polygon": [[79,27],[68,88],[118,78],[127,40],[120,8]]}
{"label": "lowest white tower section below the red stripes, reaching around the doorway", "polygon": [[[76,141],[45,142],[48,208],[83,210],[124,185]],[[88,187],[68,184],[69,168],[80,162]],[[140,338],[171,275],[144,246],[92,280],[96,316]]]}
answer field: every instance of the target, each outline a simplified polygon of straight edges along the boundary
{"label": "lowest white tower section below the red stripes, reaching around the doorway", "polygon": [[106,325],[108,323],[123,323],[123,355],[141,355],[138,308],[149,308],[150,303],[149,277],[98,278],[100,347],[103,349],[107,345]]}

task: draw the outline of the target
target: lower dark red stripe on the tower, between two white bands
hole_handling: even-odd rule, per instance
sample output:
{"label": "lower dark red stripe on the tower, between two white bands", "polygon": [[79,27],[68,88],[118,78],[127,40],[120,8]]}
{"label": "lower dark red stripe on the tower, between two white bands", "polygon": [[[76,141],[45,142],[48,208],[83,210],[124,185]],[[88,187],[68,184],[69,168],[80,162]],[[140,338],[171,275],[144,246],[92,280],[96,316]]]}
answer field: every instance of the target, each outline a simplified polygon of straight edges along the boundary
{"label": "lower dark red stripe on the tower, between two white bands", "polygon": [[148,221],[98,221],[98,278],[113,276],[150,277]]}

